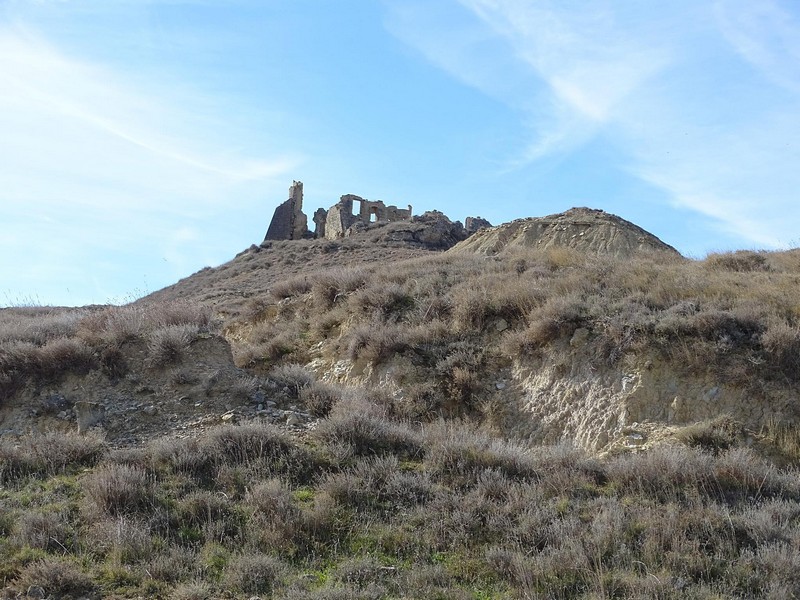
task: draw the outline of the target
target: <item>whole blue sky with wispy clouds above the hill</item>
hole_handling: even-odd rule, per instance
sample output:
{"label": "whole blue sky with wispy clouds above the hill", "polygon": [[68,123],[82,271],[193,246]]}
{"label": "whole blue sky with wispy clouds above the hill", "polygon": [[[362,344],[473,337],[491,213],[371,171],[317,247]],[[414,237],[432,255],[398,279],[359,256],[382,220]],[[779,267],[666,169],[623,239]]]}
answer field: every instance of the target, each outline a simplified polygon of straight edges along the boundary
{"label": "whole blue sky with wispy clouds above the hill", "polygon": [[492,223],[797,246],[790,0],[0,0],[0,305],[124,302],[293,179]]}

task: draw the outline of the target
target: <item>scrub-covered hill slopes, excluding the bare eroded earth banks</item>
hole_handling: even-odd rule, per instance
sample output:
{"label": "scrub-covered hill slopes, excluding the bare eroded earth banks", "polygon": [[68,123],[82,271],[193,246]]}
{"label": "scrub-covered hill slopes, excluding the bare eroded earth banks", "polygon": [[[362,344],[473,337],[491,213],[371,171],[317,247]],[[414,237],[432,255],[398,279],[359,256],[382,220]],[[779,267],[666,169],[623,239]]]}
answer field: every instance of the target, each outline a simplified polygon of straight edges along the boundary
{"label": "scrub-covered hill slopes, excluding the bare eroded earth banks", "polygon": [[[59,435],[4,442],[6,595],[34,584],[62,597],[800,593],[791,429],[772,440],[790,470],[737,447],[724,421],[687,430],[688,447],[601,461],[504,439],[485,426],[480,402],[493,369],[554,351],[578,328],[608,364],[647,349],[687,371],[794,386],[797,252],[701,262],[425,253],[386,268],[366,250],[342,267],[341,252],[320,249],[338,268],[319,270],[291,251],[287,264],[267,261],[277,271],[262,271],[263,251],[246,254],[150,300],[221,302],[237,360],[256,376],[303,363],[322,344],[372,365],[405,356],[430,385],[398,403],[380,390],[302,382],[298,401],[328,415],[303,441],[252,425],[124,451]],[[303,272],[287,277],[295,267]],[[3,313],[2,381],[20,369],[53,376],[65,356],[70,368],[99,368],[97,349],[131,333],[127,319],[110,327],[110,314]],[[186,324],[152,323],[131,335]]]}

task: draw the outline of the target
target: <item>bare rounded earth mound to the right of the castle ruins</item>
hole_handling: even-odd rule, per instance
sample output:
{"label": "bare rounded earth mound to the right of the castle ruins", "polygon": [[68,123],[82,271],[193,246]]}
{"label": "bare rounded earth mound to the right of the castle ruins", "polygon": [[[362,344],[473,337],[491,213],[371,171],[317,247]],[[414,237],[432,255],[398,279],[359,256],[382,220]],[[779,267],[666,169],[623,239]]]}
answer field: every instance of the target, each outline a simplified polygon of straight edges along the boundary
{"label": "bare rounded earth mound to the right of the castle ruins", "polygon": [[591,208],[572,208],[547,217],[517,219],[477,231],[453,252],[497,254],[506,248],[566,247],[610,256],[630,256],[642,250],[678,254],[641,227],[616,215]]}

